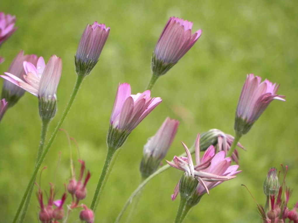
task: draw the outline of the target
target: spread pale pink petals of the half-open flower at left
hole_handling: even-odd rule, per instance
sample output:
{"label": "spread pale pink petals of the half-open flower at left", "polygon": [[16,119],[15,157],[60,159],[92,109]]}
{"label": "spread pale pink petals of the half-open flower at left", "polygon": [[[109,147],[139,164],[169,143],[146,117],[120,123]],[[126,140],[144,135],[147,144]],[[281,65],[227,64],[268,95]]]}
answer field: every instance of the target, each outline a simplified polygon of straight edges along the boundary
{"label": "spread pale pink petals of the half-open flower at left", "polygon": [[1,77],[45,101],[57,100],[56,90],[62,70],[60,57],[52,55],[46,65],[44,58],[39,57],[36,67],[30,62],[24,61],[24,69],[25,81],[11,73],[5,73],[7,76],[1,75]]}

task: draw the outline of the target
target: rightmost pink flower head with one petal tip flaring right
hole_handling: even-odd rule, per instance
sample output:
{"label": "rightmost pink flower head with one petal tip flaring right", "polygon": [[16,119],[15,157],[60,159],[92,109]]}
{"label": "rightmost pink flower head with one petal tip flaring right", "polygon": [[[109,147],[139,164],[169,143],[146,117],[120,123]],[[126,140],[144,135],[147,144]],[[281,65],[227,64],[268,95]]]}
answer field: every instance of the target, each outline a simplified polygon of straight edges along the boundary
{"label": "rightmost pink flower head with one petal tip flaring right", "polygon": [[285,101],[285,96],[277,95],[278,87],[278,84],[272,84],[267,79],[261,82],[259,76],[247,75],[235,117],[234,129],[238,135],[241,136],[249,131],[272,100]]}

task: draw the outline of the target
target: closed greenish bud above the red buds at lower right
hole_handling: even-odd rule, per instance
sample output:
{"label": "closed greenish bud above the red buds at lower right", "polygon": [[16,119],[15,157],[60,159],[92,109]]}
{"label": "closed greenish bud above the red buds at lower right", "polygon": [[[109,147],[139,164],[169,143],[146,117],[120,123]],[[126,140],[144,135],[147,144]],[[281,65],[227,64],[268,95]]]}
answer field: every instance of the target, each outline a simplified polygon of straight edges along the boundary
{"label": "closed greenish bud above the red buds at lower right", "polygon": [[276,195],[279,190],[276,168],[270,168],[263,184],[263,191],[266,196]]}

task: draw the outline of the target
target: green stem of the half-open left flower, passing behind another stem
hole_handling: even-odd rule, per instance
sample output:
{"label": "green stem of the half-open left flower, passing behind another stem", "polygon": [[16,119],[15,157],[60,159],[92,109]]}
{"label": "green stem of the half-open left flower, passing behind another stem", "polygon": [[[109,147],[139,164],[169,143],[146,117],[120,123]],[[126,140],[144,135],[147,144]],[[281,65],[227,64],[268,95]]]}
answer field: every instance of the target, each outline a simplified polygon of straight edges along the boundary
{"label": "green stem of the half-open left flower, passing behind another stem", "polygon": [[[41,154],[44,150],[44,141],[46,139],[46,132],[48,130],[48,125],[49,125],[49,120],[42,120],[41,136],[40,136],[40,142],[39,142],[39,147],[38,147],[37,158],[36,158],[36,161],[35,161],[35,167],[36,167],[36,165],[37,165],[37,163],[38,163],[38,161],[41,157]],[[24,205],[24,209],[23,209],[23,212],[22,212],[22,215],[21,215],[21,218],[20,218],[20,223],[24,222],[24,219],[25,219],[25,216],[26,216],[26,213],[27,213],[27,209],[29,207],[29,203],[30,203],[30,200],[31,200],[33,188],[34,188],[34,184],[31,185],[29,193],[27,195],[27,199],[26,199],[26,202],[25,202],[25,205]]]}

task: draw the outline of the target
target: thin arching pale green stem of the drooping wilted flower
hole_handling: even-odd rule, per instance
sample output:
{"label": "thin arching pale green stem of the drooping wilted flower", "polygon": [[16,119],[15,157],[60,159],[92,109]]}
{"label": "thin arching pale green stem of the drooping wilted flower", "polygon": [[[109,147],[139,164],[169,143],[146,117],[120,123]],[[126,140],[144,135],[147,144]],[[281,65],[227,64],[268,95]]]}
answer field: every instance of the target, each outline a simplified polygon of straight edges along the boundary
{"label": "thin arching pale green stem of the drooping wilted flower", "polygon": [[[194,147],[192,147],[190,149],[190,153],[194,153],[195,149]],[[182,153],[180,156],[186,156],[186,153]],[[179,156],[179,157],[180,157]],[[173,162],[173,160],[171,161]],[[139,184],[139,186],[134,190],[134,192],[132,192],[131,196],[128,198],[128,200],[125,202],[122,210],[120,211],[120,213],[118,214],[115,223],[119,223],[122,215],[124,214],[124,212],[126,211],[126,209],[128,208],[128,206],[131,204],[131,202],[133,201],[134,197],[139,193],[140,190],[142,190],[142,188],[152,179],[154,178],[156,175],[159,175],[160,173],[164,172],[165,170],[169,169],[170,165],[166,164],[164,166],[162,166],[161,168],[159,168],[158,170],[156,170],[153,174],[151,174],[149,177],[147,177],[142,183]]]}

